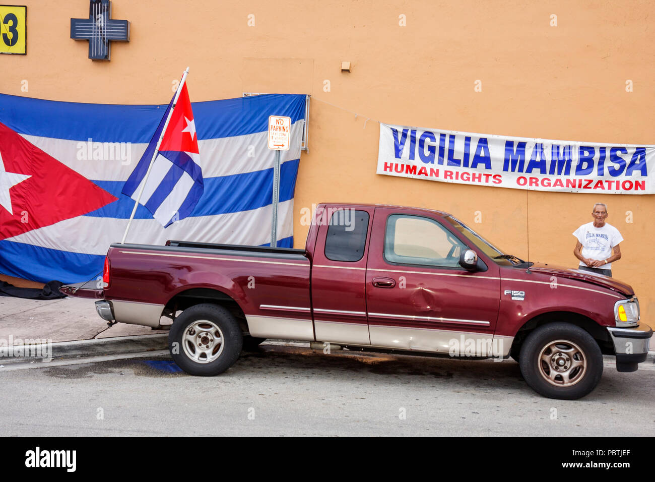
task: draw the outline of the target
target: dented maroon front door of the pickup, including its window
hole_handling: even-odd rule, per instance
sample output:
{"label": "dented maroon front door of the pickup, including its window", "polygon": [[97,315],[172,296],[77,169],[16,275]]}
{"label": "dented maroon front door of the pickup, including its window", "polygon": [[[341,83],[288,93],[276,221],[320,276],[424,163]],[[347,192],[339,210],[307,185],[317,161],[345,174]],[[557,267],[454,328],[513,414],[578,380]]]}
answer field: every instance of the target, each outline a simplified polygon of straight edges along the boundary
{"label": "dented maroon front door of the pickup, including its window", "polygon": [[438,216],[380,207],[370,244],[366,294],[373,346],[464,354],[462,341],[470,348],[472,339],[474,351],[491,347],[500,293],[495,263],[487,263],[487,271],[466,271],[458,260],[468,247]]}

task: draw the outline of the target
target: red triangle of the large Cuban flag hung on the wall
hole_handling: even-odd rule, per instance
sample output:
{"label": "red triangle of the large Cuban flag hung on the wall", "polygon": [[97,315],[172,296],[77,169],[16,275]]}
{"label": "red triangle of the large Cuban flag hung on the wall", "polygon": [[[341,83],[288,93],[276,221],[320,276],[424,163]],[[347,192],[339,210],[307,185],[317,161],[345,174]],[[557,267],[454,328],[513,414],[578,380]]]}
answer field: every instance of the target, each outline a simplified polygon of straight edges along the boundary
{"label": "red triangle of the large Cuban flag hung on the wall", "polygon": [[[12,212],[5,207],[7,193],[3,197],[2,192],[7,186],[11,186]],[[75,218],[117,200],[3,123],[0,123],[0,199],[5,199],[0,205],[0,239]]]}

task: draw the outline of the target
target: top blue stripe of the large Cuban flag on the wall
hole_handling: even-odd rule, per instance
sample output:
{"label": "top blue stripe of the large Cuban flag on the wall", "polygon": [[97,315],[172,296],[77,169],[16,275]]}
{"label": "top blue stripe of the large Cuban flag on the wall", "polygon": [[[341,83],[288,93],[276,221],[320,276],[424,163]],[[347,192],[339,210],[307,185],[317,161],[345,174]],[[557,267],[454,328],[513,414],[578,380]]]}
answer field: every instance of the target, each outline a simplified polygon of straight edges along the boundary
{"label": "top blue stripe of the large Cuban flag on the wall", "polygon": [[[31,136],[147,144],[167,107],[81,104],[0,94],[0,122]],[[266,94],[191,102],[191,107],[198,139],[214,139],[267,131],[269,115],[286,115],[291,123],[304,119],[305,95]]]}

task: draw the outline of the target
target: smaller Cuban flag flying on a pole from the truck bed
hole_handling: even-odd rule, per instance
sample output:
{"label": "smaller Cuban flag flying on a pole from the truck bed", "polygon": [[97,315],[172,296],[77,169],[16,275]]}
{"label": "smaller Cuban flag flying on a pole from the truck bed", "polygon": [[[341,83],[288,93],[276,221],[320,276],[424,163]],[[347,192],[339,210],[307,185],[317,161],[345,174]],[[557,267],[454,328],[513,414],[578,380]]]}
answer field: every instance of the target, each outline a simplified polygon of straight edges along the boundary
{"label": "smaller Cuban flag flying on a pole from the truck bed", "polygon": [[204,190],[185,77],[186,72],[155,135],[122,189],[123,194],[145,206],[164,228],[189,216]]}

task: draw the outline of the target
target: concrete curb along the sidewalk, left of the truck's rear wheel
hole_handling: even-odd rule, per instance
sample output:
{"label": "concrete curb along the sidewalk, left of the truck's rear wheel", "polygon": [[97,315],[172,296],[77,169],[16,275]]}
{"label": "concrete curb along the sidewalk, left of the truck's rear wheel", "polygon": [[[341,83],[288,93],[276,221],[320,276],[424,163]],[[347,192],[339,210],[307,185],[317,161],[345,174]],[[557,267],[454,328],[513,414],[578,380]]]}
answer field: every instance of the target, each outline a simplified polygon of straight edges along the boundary
{"label": "concrete curb along the sidewalk, left of the truck's rear wheel", "polygon": [[0,347],[0,365],[168,350],[168,333]]}

